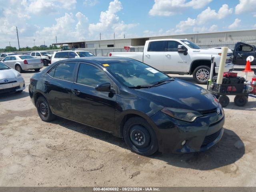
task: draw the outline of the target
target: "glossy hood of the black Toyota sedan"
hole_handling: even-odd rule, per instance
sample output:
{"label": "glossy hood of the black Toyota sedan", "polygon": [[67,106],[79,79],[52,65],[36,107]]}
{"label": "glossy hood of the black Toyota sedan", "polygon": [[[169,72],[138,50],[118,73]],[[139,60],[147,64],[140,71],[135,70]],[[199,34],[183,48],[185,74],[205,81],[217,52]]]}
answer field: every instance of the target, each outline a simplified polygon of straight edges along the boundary
{"label": "glossy hood of the black Toyota sedan", "polygon": [[179,79],[136,90],[141,96],[155,100],[165,107],[206,111],[218,106],[216,98],[206,89]]}

